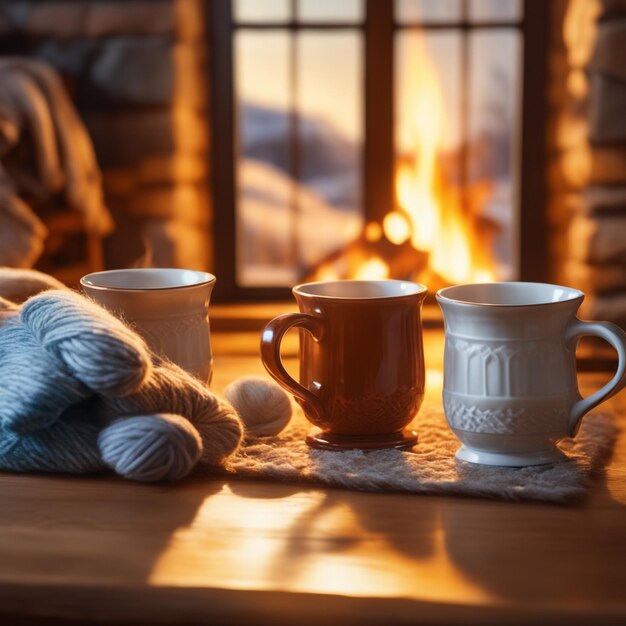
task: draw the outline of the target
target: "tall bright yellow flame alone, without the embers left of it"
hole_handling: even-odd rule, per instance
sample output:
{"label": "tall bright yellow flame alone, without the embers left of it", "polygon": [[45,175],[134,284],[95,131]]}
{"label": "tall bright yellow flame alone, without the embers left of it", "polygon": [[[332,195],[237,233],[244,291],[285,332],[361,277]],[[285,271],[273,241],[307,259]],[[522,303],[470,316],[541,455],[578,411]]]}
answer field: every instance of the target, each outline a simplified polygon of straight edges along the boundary
{"label": "tall bright yellow flame alone, without the embers left of it", "polygon": [[[410,58],[405,104],[411,112],[413,153],[397,169],[396,197],[408,220],[411,244],[428,253],[430,269],[445,281],[495,280],[492,264],[474,241],[461,210],[459,193],[446,188],[438,168],[446,107],[436,70],[417,39],[412,41]],[[394,242],[395,234],[385,233]]]}

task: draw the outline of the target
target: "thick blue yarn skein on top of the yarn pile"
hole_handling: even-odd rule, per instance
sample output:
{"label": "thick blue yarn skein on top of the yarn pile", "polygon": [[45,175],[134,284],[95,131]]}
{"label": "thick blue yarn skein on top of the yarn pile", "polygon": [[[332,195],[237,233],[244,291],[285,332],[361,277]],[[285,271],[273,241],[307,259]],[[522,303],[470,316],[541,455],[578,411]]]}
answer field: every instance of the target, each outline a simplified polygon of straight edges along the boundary
{"label": "thick blue yarn skein on top of the yarn pile", "polygon": [[130,393],[150,372],[143,341],[71,291],[34,296],[0,331],[0,425],[16,433],[51,425],[93,391]]}

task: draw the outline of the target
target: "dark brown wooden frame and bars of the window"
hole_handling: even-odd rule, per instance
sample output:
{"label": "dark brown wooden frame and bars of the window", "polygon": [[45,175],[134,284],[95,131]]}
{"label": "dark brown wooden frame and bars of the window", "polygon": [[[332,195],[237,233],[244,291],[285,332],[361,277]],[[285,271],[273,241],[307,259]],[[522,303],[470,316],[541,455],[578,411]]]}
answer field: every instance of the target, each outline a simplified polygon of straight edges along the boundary
{"label": "dark brown wooden frame and bars of the window", "polygon": [[[468,0],[461,0],[467,16]],[[479,29],[516,28],[522,38],[518,165],[519,280],[545,281],[549,276],[548,224],[546,220],[546,114],[547,42],[549,3],[523,1],[523,16],[516,22],[394,21],[392,0],[364,0],[362,23],[297,22],[240,23],[232,19],[231,0],[206,0],[209,38],[209,103],[211,118],[211,191],[213,207],[214,271],[218,277],[217,301],[284,300],[291,287],[243,287],[237,284],[235,111],[233,33],[236,28],[337,30],[362,28],[364,35],[364,144],[362,199],[364,219],[380,220],[395,204],[394,172],[394,38],[397,30],[459,30],[467,46],[467,33]],[[291,0],[295,4],[295,0]],[[531,41],[532,45],[527,45]],[[463,55],[466,63],[469,55]],[[462,70],[462,76],[467,72]],[[461,87],[463,94],[466,86]],[[463,103],[461,103],[463,107]],[[463,114],[464,121],[467,115]],[[297,148],[292,148],[296,150]]]}

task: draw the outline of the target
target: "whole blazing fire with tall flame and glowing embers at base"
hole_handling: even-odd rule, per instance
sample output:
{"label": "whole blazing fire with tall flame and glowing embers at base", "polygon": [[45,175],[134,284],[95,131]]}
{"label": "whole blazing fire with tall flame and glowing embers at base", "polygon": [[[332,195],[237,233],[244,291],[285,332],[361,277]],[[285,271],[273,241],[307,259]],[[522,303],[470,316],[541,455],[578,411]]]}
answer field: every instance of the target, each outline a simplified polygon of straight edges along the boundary
{"label": "whole blazing fire with tall flame and glowing embers at base", "polygon": [[[436,70],[422,44],[412,40],[402,132],[404,154],[396,170],[397,206],[367,223],[359,239],[318,265],[312,280],[410,278],[442,284],[496,279],[486,222],[477,215],[489,181],[460,189],[440,166],[446,106]],[[409,113],[409,114],[407,114]],[[448,147],[449,148],[449,147]],[[407,154],[408,153],[408,154]]]}

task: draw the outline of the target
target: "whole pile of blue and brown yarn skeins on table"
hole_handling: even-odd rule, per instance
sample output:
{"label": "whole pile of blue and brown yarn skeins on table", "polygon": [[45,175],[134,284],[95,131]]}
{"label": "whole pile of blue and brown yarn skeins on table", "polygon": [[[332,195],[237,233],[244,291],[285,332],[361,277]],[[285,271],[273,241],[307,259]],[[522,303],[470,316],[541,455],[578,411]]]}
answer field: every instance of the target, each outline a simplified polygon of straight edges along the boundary
{"label": "whole pile of blue and brown yarn skeins on table", "polygon": [[2,469],[177,480],[242,438],[228,403],[69,290],[0,298],[0,380]]}

